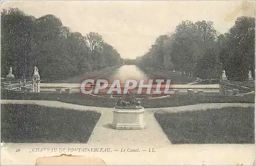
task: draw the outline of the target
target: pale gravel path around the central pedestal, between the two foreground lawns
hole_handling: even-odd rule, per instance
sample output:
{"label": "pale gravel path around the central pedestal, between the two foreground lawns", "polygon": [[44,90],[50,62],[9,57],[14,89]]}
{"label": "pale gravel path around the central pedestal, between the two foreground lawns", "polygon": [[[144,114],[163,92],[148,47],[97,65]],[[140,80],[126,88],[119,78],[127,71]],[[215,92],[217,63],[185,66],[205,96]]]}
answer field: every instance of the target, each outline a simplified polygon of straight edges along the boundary
{"label": "pale gravel path around the central pedestal, between the two foreground lawns", "polygon": [[146,129],[143,130],[114,130],[109,127],[113,119],[111,111],[104,111],[88,140],[89,145],[122,145],[124,147],[150,146],[161,147],[170,145],[170,142],[161,126],[157,123],[154,114],[145,113]]}

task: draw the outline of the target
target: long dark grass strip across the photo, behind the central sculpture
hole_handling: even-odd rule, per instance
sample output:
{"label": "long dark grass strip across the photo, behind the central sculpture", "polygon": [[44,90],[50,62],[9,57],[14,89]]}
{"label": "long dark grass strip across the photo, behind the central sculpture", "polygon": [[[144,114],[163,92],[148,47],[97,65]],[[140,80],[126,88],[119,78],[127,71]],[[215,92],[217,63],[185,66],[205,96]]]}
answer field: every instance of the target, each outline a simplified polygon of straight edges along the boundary
{"label": "long dark grass strip across the photo, behind the central sculpture", "polygon": [[[6,100],[49,100],[72,103],[77,105],[109,107],[115,106],[117,99],[95,98],[80,93],[9,93],[2,92],[1,99]],[[160,108],[160,107],[177,107],[185,105],[194,105],[200,103],[254,103],[255,96],[188,96],[180,94],[179,96],[171,96],[164,99],[140,99],[144,108]]]}

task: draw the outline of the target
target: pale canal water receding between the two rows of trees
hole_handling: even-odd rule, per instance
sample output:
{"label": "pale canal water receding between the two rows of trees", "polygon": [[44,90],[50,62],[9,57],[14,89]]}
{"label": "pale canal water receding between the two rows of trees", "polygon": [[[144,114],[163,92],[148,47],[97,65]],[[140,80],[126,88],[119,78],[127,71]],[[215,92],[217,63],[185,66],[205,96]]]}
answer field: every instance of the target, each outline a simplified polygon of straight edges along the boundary
{"label": "pale canal water receding between the two rows of trees", "polygon": [[125,80],[148,80],[148,77],[144,72],[141,71],[136,65],[123,65],[118,69],[113,70],[110,73],[110,78],[108,79],[109,83],[112,83],[114,80],[120,80],[121,84],[125,83]]}

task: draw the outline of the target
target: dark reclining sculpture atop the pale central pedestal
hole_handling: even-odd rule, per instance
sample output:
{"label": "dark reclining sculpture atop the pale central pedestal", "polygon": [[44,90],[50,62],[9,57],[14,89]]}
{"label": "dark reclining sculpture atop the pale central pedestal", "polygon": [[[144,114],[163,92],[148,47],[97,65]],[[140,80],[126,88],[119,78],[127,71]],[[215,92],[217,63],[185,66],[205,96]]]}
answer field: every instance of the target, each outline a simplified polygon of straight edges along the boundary
{"label": "dark reclining sculpture atop the pale central pedestal", "polygon": [[140,101],[135,98],[134,94],[127,93],[124,98],[119,98],[116,107],[118,109],[140,109]]}

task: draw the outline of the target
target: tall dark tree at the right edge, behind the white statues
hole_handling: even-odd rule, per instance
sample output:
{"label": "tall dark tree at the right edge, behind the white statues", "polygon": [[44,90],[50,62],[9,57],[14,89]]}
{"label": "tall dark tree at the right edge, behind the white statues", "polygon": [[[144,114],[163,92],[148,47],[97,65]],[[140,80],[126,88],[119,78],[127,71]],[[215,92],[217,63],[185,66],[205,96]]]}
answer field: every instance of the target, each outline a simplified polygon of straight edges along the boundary
{"label": "tall dark tree at the right edge, behind the white statues", "polygon": [[254,77],[255,69],[255,18],[239,17],[222,39],[221,62],[227,75],[234,81],[245,81],[248,70]]}

